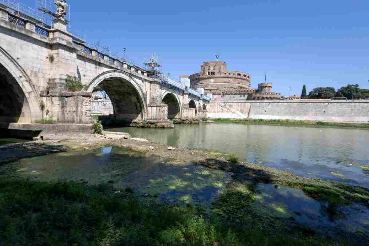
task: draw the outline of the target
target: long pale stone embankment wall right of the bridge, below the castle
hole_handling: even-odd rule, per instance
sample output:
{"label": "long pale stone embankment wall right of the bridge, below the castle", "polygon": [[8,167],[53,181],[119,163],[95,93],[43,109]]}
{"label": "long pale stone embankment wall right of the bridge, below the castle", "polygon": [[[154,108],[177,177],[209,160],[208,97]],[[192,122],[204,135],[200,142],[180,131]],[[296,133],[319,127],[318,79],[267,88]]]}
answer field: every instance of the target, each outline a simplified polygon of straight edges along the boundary
{"label": "long pale stone embankment wall right of the bridge, below the castle", "polygon": [[212,101],[209,118],[369,122],[369,100]]}

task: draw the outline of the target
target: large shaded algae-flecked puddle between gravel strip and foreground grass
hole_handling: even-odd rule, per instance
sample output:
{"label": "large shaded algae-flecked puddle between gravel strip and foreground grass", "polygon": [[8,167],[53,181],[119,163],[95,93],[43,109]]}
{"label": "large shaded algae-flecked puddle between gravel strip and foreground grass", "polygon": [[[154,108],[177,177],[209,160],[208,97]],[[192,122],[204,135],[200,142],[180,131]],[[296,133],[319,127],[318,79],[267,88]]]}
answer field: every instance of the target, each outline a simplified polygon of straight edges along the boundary
{"label": "large shaded algae-flecked puddle between gravel strip and foreground grass", "polygon": [[147,157],[116,146],[21,159],[0,167],[0,178],[12,175],[46,181],[109,182],[117,191],[131,187],[156,201],[186,203],[210,202],[231,180],[223,171]]}

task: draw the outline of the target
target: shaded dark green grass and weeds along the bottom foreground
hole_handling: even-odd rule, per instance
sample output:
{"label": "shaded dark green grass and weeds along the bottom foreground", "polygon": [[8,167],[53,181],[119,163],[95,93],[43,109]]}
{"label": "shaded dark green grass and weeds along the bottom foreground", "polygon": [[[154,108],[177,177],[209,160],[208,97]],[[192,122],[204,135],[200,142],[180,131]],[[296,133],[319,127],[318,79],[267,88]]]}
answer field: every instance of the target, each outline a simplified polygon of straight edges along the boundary
{"label": "shaded dark green grass and weeds along the bottom foreground", "polygon": [[242,216],[204,215],[190,205],[143,204],[131,192],[75,182],[1,180],[0,218],[2,245],[348,245],[293,228],[270,233]]}

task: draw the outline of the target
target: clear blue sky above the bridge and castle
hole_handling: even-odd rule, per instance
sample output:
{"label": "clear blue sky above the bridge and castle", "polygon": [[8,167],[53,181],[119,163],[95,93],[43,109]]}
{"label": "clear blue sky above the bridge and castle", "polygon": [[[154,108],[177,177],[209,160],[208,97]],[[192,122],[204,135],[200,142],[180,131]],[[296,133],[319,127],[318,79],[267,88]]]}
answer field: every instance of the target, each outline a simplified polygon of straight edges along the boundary
{"label": "clear blue sky above the bridge and castle", "polygon": [[[20,0],[35,6],[35,0]],[[369,1],[76,1],[72,28],[142,65],[157,52],[177,79],[221,59],[229,70],[264,80],[273,91],[301,94],[348,83],[369,88]]]}

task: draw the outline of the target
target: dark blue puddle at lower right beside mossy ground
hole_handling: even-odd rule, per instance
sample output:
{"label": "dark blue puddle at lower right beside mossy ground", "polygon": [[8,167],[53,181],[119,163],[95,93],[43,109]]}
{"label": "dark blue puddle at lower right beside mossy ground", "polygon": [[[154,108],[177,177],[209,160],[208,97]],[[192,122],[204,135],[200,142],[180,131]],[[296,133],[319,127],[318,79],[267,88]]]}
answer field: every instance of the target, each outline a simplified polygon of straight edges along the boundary
{"label": "dark blue puddle at lower right beside mossy ground", "polygon": [[[275,207],[283,211],[285,219],[306,225],[316,231],[335,235],[369,233],[369,209],[363,205],[352,204],[350,207],[338,207],[332,212],[327,202],[317,201],[305,195],[300,189],[274,184],[258,184],[260,193],[254,202],[255,207]],[[277,204],[278,206],[275,206]]]}

